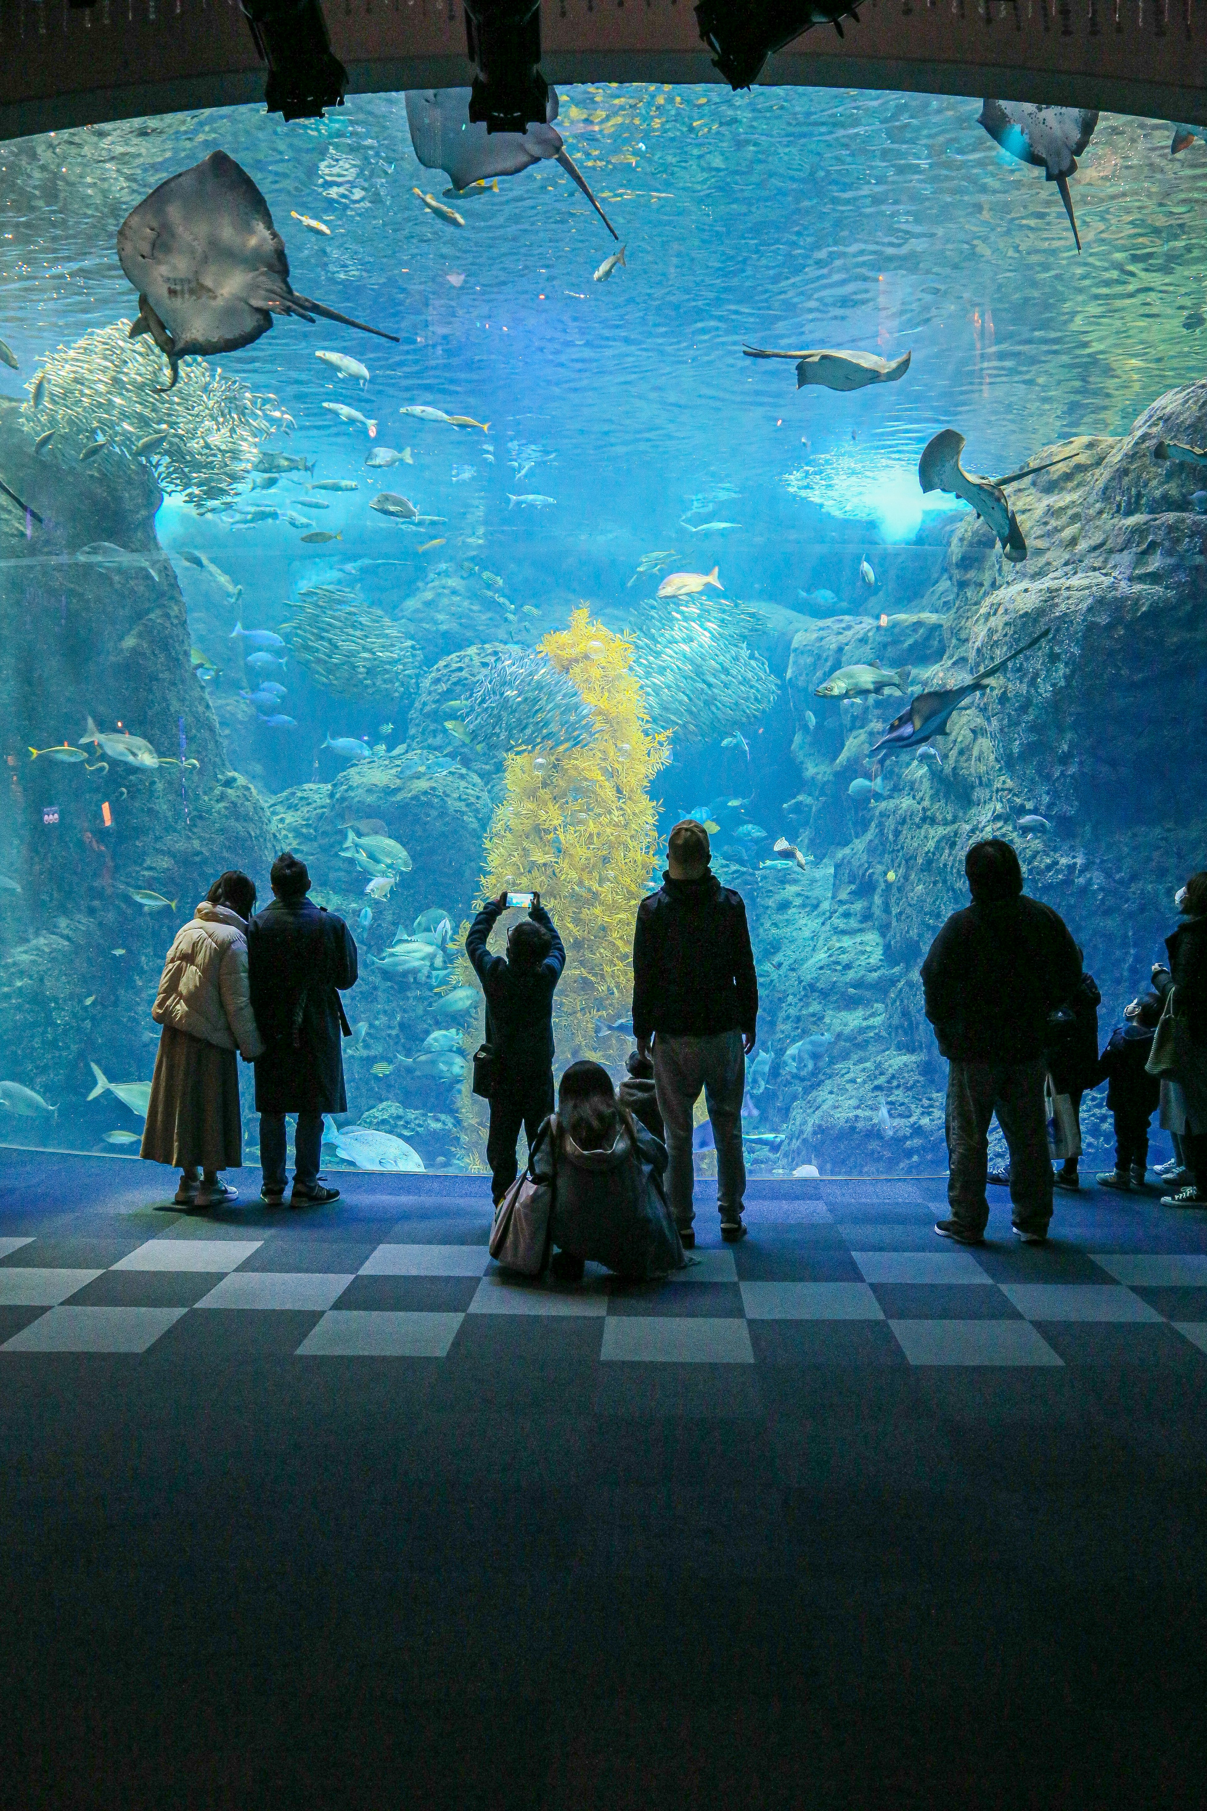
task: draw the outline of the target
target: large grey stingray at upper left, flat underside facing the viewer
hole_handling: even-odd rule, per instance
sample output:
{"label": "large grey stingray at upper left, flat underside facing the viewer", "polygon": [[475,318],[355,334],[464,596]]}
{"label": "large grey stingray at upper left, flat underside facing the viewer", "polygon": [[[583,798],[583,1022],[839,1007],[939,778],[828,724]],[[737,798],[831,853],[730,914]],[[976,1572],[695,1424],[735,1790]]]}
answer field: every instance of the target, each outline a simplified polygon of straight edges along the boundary
{"label": "large grey stingray at upper left, flat underside facing the viewer", "polygon": [[136,333],[150,333],[172,368],[214,351],[237,351],[268,333],[273,315],[315,315],[394,340],[311,302],[290,286],[290,259],[268,203],[246,170],[214,150],[170,176],[118,228],[118,257],[138,290]]}

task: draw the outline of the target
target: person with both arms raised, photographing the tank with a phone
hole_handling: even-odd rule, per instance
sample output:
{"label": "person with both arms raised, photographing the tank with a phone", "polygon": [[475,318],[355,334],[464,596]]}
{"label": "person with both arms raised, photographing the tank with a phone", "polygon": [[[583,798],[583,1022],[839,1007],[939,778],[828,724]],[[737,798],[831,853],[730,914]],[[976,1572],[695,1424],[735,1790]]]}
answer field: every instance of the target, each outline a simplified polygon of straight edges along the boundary
{"label": "person with both arms raised, photographing the tank with a phone", "polygon": [[507,954],[492,956],[487,942],[505,911],[507,893],[499,893],[481,907],[465,938],[465,954],[487,996],[487,1043],[496,1052],[487,1134],[496,1206],[516,1181],[519,1126],[532,1150],[541,1123],[554,1110],[554,989],[566,965],[566,951],[539,893],[532,895],[528,916],[510,927]]}

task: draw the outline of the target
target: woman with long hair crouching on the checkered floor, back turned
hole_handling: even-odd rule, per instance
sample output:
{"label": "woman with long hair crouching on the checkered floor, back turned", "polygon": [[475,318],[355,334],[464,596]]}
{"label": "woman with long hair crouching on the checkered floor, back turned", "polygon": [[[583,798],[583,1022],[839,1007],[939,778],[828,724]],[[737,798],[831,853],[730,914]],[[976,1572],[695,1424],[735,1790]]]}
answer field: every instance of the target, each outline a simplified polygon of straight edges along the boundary
{"label": "woman with long hair crouching on the checkered floor, back turned", "polygon": [[550,1273],[574,1282],[588,1259],[633,1280],[682,1270],[688,1259],[662,1192],[666,1146],[621,1107],[608,1070],[572,1063],[548,1128],[532,1168],[554,1181]]}

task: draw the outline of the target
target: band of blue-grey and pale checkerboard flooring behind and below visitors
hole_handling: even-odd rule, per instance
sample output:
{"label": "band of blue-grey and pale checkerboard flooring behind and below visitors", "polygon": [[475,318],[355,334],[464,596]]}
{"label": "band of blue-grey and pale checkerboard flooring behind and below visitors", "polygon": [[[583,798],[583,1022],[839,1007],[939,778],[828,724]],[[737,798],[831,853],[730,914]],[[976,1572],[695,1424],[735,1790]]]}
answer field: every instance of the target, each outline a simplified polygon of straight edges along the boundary
{"label": "band of blue-grey and pale checkerboard flooring behind and below visitors", "polygon": [[480,1317],[514,1338],[521,1324],[590,1322],[581,1337],[603,1365],[1142,1362],[1153,1329],[1189,1362],[1207,1356],[1207,1253],[1095,1250],[1093,1233],[950,1251],[928,1250],[927,1231],[917,1206],[892,1222],[755,1217],[744,1244],[702,1246],[686,1271],[639,1286],[595,1266],[579,1286],[508,1277],[485,1242],[407,1242],[405,1222],[380,1242],[318,1228],[241,1239],[192,1221],[127,1250],[5,1237],[0,1355],[139,1356],[194,1315],[275,1315],[299,1358],[443,1360]]}

